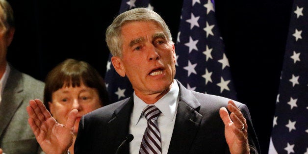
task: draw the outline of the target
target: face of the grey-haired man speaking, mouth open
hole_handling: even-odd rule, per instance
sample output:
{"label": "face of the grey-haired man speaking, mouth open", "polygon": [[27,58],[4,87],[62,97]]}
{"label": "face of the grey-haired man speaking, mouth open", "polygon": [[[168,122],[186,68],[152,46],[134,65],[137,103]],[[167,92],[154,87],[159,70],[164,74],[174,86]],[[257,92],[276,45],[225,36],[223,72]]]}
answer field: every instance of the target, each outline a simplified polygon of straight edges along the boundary
{"label": "face of the grey-haired man speaking, mouth open", "polygon": [[[175,48],[154,22],[131,22],[122,26],[120,58],[137,96],[162,94],[170,90],[175,77]],[[118,72],[119,73],[119,72]]]}

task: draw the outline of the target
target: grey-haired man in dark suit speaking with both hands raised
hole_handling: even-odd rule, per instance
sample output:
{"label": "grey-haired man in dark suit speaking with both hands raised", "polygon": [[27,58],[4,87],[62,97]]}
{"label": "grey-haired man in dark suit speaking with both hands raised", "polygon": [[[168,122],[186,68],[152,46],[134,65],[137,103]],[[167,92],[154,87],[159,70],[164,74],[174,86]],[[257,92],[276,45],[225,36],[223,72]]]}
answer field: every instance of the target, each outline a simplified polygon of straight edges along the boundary
{"label": "grey-haired man in dark suit speaking with both hands raised", "polygon": [[[245,104],[188,90],[174,79],[175,46],[168,26],[157,13],[135,8],[120,14],[107,28],[106,42],[115,70],[128,77],[134,93],[81,118],[76,154],[259,152]],[[66,125],[57,124],[39,100],[30,101],[27,111],[36,137],[48,143],[69,141],[76,110]],[[51,133],[57,131],[61,133]],[[133,140],[119,148],[128,134]],[[63,153],[70,144],[56,150]],[[50,147],[53,152],[55,146]]]}

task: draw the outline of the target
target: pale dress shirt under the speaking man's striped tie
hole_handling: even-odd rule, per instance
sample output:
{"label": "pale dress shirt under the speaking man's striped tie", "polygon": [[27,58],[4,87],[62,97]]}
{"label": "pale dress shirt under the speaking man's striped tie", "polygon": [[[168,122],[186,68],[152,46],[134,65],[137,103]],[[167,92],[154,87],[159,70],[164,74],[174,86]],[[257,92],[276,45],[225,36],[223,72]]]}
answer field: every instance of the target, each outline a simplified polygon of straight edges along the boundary
{"label": "pale dress shirt under the speaking man's striped tie", "polygon": [[[147,119],[142,115],[142,111],[149,104],[143,102],[135,93],[133,94],[133,99],[134,106],[130,116],[129,133],[134,136],[134,139],[129,143],[129,153],[139,154],[142,137],[147,128]],[[170,91],[153,104],[161,111],[157,119],[157,125],[160,131],[162,154],[168,153],[176,120],[178,103],[179,85],[177,81],[174,80]]]}

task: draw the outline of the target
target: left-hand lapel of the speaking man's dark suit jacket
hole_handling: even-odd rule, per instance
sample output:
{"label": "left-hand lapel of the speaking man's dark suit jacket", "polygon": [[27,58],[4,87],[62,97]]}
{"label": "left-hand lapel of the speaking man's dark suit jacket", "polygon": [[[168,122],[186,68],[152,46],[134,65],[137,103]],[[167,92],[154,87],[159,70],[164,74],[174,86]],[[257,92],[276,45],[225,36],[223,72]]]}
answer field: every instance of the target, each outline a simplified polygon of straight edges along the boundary
{"label": "left-hand lapel of the speaking man's dark suit jacket", "polygon": [[[125,140],[129,132],[130,114],[133,108],[133,97],[130,97],[127,102],[118,107],[113,114],[113,118],[108,123],[108,135],[110,145],[113,147],[113,152],[117,150],[120,144]],[[125,144],[120,151],[120,154],[129,153],[129,144]]]}

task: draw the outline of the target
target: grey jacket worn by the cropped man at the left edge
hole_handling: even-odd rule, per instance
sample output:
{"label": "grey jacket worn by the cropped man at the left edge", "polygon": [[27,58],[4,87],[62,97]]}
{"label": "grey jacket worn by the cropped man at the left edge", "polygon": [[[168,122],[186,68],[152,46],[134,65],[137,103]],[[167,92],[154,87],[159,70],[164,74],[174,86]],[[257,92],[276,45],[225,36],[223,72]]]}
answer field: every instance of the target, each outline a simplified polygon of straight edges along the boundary
{"label": "grey jacket worn by the cropped man at the left edge", "polygon": [[43,99],[45,84],[10,68],[0,103],[0,148],[6,154],[36,154],[39,144],[28,124],[26,106],[30,99]]}

